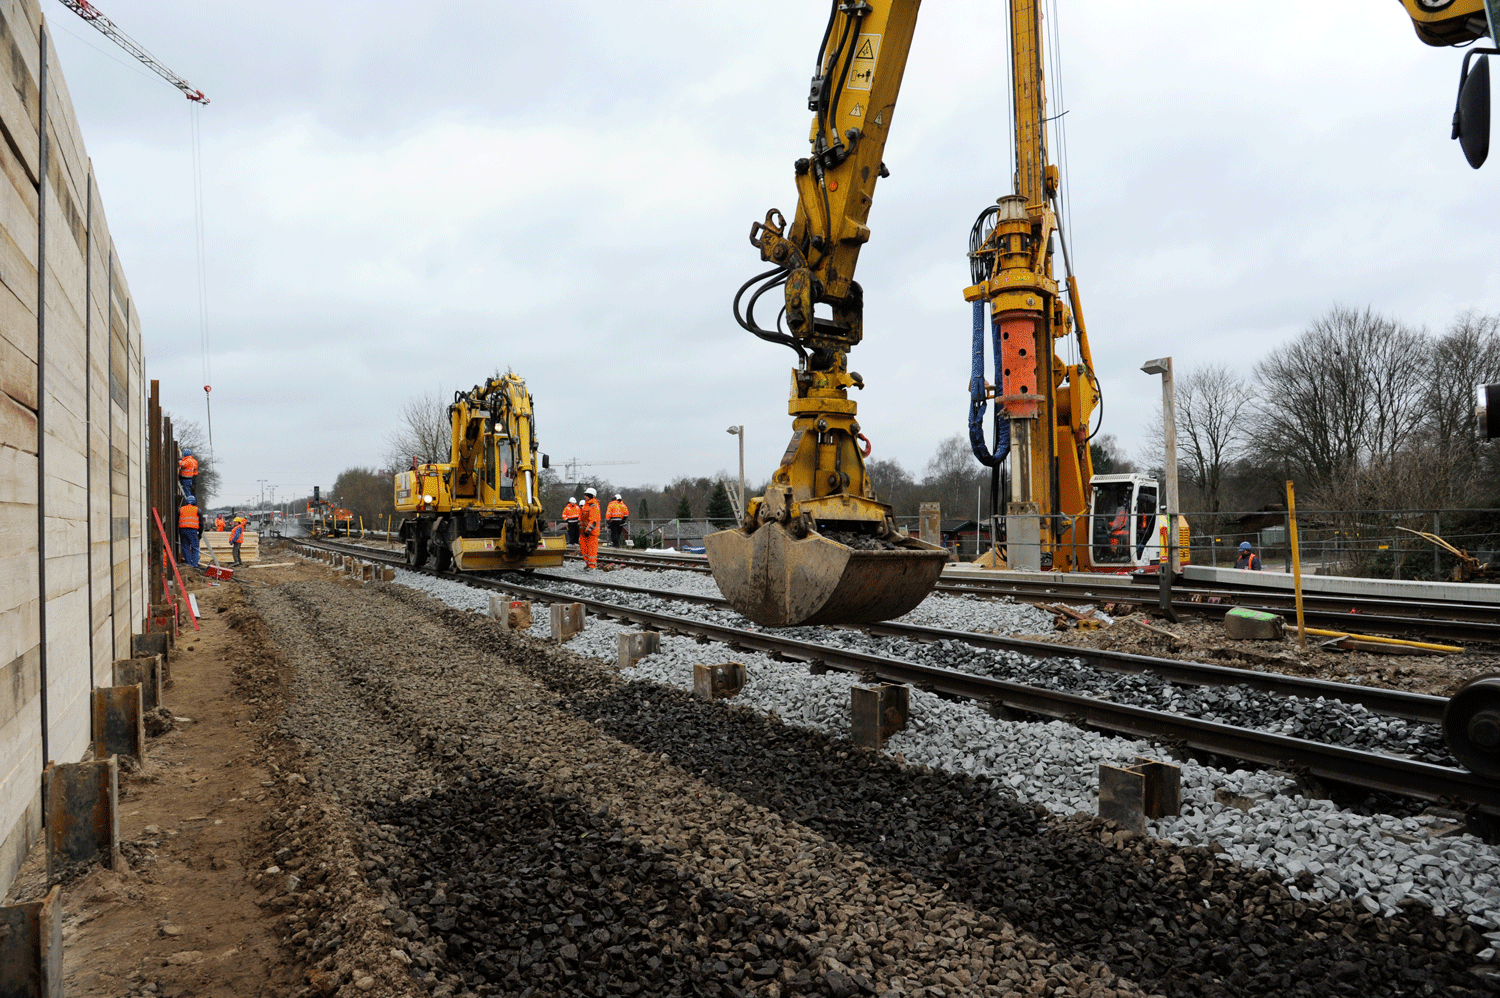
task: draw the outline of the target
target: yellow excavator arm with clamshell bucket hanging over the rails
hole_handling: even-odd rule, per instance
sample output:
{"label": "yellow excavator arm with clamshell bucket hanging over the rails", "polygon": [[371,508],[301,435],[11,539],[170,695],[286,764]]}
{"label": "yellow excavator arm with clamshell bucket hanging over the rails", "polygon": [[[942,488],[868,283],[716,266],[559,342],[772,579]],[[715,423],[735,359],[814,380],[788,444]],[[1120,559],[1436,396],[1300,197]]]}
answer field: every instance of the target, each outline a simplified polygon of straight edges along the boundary
{"label": "yellow excavator arm with clamshell bucket hanging over the rails", "polygon": [[[740,288],[734,311],[756,336],[796,351],[792,441],[744,522],[710,534],[705,546],[726,599],[766,626],[904,614],[946,560],[940,548],[897,531],[891,507],[876,500],[864,470],[868,441],[849,398],[850,387],[864,387],[848,362],[864,335],[854,272],[870,240],[874,185],[888,176],[882,153],[918,6],[832,2],[807,99],[812,150],[795,164],[796,212],[790,225],[771,209],[750,227],[750,243],[771,269]],[[784,314],[766,329],[754,309],[776,288]]]}

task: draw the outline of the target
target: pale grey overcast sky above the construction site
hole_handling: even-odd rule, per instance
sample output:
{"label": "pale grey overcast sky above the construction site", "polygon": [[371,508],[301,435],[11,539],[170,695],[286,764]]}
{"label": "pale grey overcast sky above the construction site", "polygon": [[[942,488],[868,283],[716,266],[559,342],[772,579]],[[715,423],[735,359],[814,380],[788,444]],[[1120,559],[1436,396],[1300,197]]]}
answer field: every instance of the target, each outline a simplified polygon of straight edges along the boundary
{"label": "pale grey overcast sky above the construction site", "polygon": [[[1050,5],[1048,5],[1050,8]],[[1449,141],[1461,54],[1394,2],[1064,2],[1064,195],[1106,393],[1138,455],[1164,354],[1244,368],[1334,303],[1444,327],[1500,311],[1500,162]],[[1144,12],[1150,12],[1149,15]],[[204,422],[190,108],[44,0],[146,332],[147,377]],[[202,89],[213,438],[222,501],[378,465],[400,405],[496,368],[554,464],[621,485],[790,434],[782,347],[730,299],[795,207],[826,5],[106,3]],[[1048,21],[1048,27],[1053,27]],[[930,0],[861,254],[850,366],[874,455],[921,474],[964,431],[966,237],[1010,192],[1000,3]]]}

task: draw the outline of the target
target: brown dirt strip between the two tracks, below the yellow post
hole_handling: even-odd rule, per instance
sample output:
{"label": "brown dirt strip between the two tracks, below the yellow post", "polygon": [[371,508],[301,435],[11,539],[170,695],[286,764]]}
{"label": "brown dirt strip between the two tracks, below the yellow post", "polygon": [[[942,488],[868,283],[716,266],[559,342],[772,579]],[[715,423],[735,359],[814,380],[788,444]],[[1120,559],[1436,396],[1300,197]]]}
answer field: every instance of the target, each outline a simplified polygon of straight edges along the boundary
{"label": "brown dirt strip between the two tracks, below the yellow post", "polygon": [[1329,680],[1332,683],[1359,683],[1386,689],[1452,696],[1472,678],[1500,674],[1500,648],[1474,645],[1462,654],[1377,654],[1370,651],[1341,651],[1323,647],[1328,638],[1310,636],[1306,647],[1298,645],[1294,629],[1288,629],[1284,641],[1233,641],[1224,635],[1218,620],[1185,617],[1179,623],[1162,617],[1134,611],[1116,617],[1114,623],[1100,629],[1080,629],[1066,615],[1059,615],[1065,630],[1042,635],[1042,641],[1054,641],[1083,648],[1130,651],[1190,662],[1226,665],[1257,672],[1284,672]]}

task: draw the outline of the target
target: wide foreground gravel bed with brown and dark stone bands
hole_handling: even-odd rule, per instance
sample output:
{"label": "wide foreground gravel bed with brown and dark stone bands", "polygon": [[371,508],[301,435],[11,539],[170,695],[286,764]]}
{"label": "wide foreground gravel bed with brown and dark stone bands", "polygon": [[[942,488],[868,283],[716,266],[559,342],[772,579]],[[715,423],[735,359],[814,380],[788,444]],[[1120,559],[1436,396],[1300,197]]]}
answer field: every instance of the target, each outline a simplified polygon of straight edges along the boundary
{"label": "wide foreground gravel bed with brown and dark stone bands", "polygon": [[[290,716],[286,734],[321,764],[314,783],[351,797],[376,786],[372,800],[346,798],[366,816],[366,878],[388,891],[393,945],[435,993],[512,990],[510,974],[564,993],[633,983],[648,993],[772,993],[772,983],[776,993],[1054,993],[1064,984],[1096,995],[1484,993],[1470,966],[1485,939],[1462,915],[1434,915],[1419,891],[1376,915],[1354,891],[1317,900],[1312,873],[1287,885],[1280,873],[1226,861],[1212,840],[1131,839],[1028,803],[1048,780],[1086,779],[1095,765],[1080,755],[1084,735],[1062,725],[942,713],[964,705],[916,693],[926,726],[891,743],[906,756],[900,765],[800,726],[808,722],[786,702],[778,710],[790,723],[747,708],[774,663],[752,663],[742,704],[702,704],[658,683],[621,684],[568,650],[434,609],[402,587],[298,584],[256,591],[254,603],[278,642],[303,635],[294,659],[306,681],[362,704],[352,716],[332,702],[327,713]],[[614,633],[590,621],[570,648],[612,659]],[[688,666],[716,651],[676,644],[668,639],[668,653],[634,672],[666,668],[678,651]],[[846,713],[848,693],[828,693],[804,696],[816,704],[812,723]],[[380,719],[388,731],[369,738],[366,722]],[[933,746],[958,752],[960,738],[968,750],[954,758],[994,771],[912,765]],[[1052,756],[1041,752],[1047,740]],[[1098,740],[1100,750],[1128,758],[1142,747],[1113,741]],[[348,767],[375,774],[338,776]],[[1022,786],[996,773],[1011,768]],[[1209,786],[1194,767],[1184,777],[1190,789]],[[1208,815],[1210,804],[1186,795]],[[1250,821],[1227,810],[1239,828]],[[1306,833],[1298,834],[1312,839]],[[640,855],[652,863],[650,882],[621,872]],[[1464,875],[1456,860],[1442,863],[1444,876]],[[680,896],[669,876],[690,887]],[[626,917],[606,945],[588,914],[600,887],[615,891],[612,911],[636,917],[650,905],[644,935],[632,935],[639,926]],[[678,906],[687,896],[692,920]],[[570,924],[574,917],[584,924]],[[648,944],[682,959],[669,963]],[[597,969],[570,956],[597,960],[597,947],[612,960]],[[772,959],[777,972],[758,977]]]}

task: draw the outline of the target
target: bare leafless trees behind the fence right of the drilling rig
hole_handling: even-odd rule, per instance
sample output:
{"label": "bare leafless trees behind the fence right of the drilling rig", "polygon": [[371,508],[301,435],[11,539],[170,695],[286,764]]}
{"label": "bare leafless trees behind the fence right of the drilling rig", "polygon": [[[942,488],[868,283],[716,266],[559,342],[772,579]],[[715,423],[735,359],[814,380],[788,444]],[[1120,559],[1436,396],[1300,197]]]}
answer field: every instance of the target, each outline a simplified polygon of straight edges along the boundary
{"label": "bare leafless trees behind the fence right of the drilling rig", "polygon": [[[1500,506],[1500,465],[1476,435],[1474,387],[1500,381],[1500,317],[1460,312],[1431,333],[1335,305],[1240,372],[1176,378],[1188,512],[1254,510],[1296,483],[1311,506]],[[1161,468],[1161,419],[1146,462]]]}

